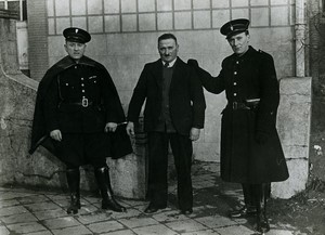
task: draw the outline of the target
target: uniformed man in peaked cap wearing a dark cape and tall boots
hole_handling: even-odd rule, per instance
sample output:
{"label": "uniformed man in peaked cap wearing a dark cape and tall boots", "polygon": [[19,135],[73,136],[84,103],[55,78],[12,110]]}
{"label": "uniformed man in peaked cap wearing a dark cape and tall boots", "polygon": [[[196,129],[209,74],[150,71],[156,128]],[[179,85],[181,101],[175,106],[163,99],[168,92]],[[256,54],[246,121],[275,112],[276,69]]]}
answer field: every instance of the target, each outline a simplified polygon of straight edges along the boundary
{"label": "uniformed man in peaked cap wearing a dark cape and tall boots", "polygon": [[[118,93],[106,68],[83,55],[91,36],[74,27],[66,28],[63,35],[68,55],[40,81],[30,153],[43,145],[66,165],[68,213],[80,209],[79,167],[87,164],[94,168],[102,208],[125,211],[114,198],[106,165],[109,138],[114,138],[118,123],[126,121]],[[125,141],[123,148],[130,149],[129,140]]]}

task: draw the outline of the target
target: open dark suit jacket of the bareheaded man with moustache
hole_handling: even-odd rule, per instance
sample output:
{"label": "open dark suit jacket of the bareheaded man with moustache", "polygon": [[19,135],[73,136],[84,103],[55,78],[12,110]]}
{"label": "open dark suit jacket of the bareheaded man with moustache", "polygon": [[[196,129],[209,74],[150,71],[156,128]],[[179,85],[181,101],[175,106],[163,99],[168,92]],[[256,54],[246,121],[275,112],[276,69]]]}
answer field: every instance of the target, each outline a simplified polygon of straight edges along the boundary
{"label": "open dark suit jacket of the bareheaded man with moustache", "polygon": [[[169,91],[171,121],[178,133],[188,135],[192,127],[203,128],[206,102],[200,81],[194,68],[177,58]],[[162,100],[162,62],[144,66],[134,88],[128,110],[128,120],[136,122],[144,108],[144,130],[153,131],[158,123]]]}

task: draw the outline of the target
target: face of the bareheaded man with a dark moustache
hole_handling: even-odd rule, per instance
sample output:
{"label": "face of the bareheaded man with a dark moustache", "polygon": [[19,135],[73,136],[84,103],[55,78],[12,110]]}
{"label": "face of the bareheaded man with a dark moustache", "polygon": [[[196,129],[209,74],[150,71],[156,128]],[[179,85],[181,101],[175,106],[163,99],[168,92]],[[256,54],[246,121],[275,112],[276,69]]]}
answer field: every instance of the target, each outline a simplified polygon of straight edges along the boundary
{"label": "face of the bareheaded man with a dark moustache", "polygon": [[179,45],[172,38],[158,42],[158,51],[164,62],[172,62],[178,56]]}

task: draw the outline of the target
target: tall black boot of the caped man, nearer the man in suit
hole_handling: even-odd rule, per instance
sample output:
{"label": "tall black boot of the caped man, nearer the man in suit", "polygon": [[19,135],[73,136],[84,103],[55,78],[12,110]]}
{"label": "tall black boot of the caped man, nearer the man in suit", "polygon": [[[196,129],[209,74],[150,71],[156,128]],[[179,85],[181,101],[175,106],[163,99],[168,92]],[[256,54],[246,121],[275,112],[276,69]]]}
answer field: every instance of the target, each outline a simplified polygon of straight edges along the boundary
{"label": "tall black boot of the caped man, nearer the man in suit", "polygon": [[108,167],[98,168],[94,173],[103,198],[102,209],[110,209],[116,212],[127,211],[127,209],[119,205],[114,198]]}

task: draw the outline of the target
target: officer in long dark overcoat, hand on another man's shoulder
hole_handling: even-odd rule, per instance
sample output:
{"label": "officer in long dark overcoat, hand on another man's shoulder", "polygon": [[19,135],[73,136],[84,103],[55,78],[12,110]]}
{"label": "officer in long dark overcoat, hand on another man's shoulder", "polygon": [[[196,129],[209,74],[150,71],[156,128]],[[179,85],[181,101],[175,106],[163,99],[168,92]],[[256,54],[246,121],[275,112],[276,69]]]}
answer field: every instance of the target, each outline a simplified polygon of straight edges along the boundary
{"label": "officer in long dark overcoat, hand on another man's shoulder", "polygon": [[234,19],[220,31],[234,53],[222,62],[218,77],[196,67],[203,86],[212,93],[225,91],[227,105],[221,120],[221,178],[240,183],[245,206],[232,218],[257,214],[257,230],[270,230],[265,216],[271,182],[288,179],[275,121],[280,89],[273,57],[249,45],[249,21]]}

